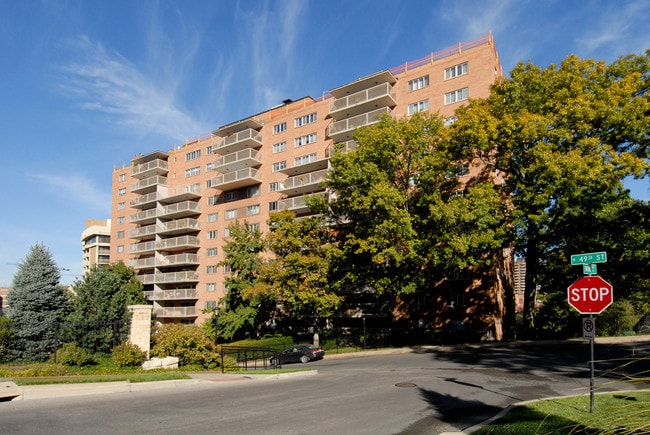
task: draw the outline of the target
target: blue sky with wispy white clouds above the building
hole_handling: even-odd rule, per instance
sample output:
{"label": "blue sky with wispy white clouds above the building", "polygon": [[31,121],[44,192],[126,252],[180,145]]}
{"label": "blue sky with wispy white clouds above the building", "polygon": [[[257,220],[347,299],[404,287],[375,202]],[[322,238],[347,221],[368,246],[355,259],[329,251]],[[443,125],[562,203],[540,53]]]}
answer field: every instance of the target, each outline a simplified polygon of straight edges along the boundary
{"label": "blue sky with wispy white clouds above the building", "polygon": [[488,31],[507,74],[644,53],[648,23],[647,0],[0,0],[0,286],[35,243],[81,278],[85,219],[135,152]]}

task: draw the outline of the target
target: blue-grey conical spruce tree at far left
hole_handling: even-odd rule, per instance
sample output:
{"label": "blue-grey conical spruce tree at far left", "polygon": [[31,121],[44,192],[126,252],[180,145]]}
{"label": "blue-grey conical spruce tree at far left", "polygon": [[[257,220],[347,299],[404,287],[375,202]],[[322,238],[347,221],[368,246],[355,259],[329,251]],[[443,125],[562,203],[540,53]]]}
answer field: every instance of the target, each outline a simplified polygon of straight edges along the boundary
{"label": "blue-grey conical spruce tree at far left", "polygon": [[68,309],[61,275],[43,244],[32,246],[14,275],[7,295],[7,315],[13,324],[10,357],[43,361],[59,345],[58,325]]}

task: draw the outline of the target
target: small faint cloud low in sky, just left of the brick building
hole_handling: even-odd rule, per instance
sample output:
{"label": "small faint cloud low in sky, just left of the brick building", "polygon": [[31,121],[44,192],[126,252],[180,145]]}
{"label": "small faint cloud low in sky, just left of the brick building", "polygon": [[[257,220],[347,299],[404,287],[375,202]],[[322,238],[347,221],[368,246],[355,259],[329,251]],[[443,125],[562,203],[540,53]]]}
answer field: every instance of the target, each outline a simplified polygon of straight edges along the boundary
{"label": "small faint cloud low in sky, just left of the brick building", "polygon": [[89,207],[91,212],[95,211],[104,215],[110,214],[110,191],[97,186],[91,179],[82,174],[29,173],[27,177],[40,183],[45,190],[51,191],[61,198]]}

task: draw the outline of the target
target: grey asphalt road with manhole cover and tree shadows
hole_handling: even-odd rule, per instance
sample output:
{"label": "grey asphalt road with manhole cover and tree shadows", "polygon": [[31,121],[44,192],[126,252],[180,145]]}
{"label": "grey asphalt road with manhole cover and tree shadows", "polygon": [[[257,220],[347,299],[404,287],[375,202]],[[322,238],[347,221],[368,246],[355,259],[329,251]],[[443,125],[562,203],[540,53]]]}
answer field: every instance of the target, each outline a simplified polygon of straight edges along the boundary
{"label": "grey asphalt road with manhole cover and tree shadows", "polygon": [[[648,356],[650,343],[597,345],[596,389],[650,387],[630,382],[643,371],[648,377]],[[0,431],[439,434],[465,430],[520,401],[582,394],[588,409],[589,357],[586,342],[327,355],[307,365],[313,375],[215,377],[172,389],[4,402]]]}

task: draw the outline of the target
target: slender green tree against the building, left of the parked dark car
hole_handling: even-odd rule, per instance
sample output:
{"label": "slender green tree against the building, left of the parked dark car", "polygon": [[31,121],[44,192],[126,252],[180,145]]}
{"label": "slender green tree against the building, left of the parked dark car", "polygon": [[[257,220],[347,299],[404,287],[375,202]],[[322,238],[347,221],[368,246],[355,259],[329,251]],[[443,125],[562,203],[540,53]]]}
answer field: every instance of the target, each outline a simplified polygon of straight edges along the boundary
{"label": "slender green tree against the building, left of the parked dark car", "polygon": [[236,221],[228,228],[230,239],[223,247],[225,257],[219,266],[228,267],[230,275],[225,279],[228,290],[219,301],[222,308],[217,335],[232,340],[256,335],[261,301],[247,296],[246,290],[256,282],[264,241],[260,231],[249,230],[246,222]]}

